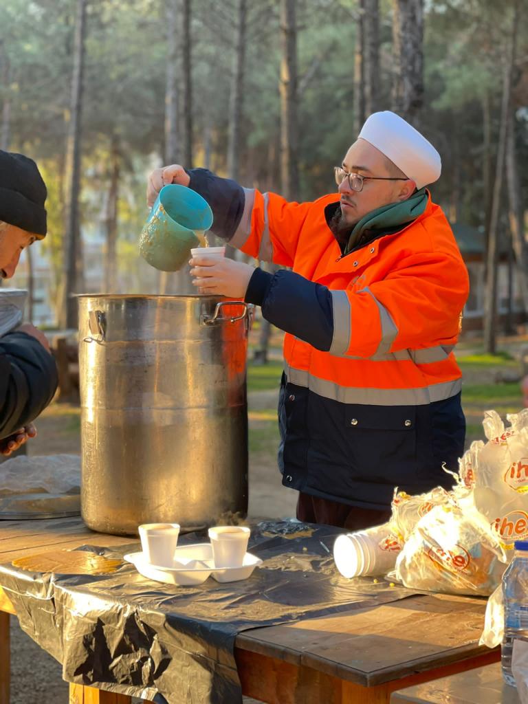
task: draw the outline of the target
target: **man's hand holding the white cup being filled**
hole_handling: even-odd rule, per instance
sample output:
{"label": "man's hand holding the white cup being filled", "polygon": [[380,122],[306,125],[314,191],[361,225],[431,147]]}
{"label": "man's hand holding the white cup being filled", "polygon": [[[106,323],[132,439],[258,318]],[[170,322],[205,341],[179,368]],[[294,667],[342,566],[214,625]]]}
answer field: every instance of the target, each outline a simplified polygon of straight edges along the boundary
{"label": "man's hand holding the white cup being filled", "polygon": [[189,264],[192,283],[201,294],[216,294],[229,298],[244,298],[255,268],[244,262],[232,259],[207,256],[194,256]]}

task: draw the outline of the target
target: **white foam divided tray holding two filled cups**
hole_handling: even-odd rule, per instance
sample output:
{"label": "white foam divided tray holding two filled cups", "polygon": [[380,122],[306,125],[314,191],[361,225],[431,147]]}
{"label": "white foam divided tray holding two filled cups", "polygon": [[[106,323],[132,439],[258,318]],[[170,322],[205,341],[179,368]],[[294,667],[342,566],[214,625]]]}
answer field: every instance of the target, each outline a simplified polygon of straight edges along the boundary
{"label": "white foam divided tray holding two filled cups", "polygon": [[217,582],[240,582],[249,579],[255,567],[262,565],[260,558],[246,553],[241,567],[215,568],[210,543],[193,543],[176,548],[172,567],[151,565],[143,553],[129,553],[125,555],[125,560],[131,562],[139,574],[148,579],[180,586],[203,584],[210,574]]}

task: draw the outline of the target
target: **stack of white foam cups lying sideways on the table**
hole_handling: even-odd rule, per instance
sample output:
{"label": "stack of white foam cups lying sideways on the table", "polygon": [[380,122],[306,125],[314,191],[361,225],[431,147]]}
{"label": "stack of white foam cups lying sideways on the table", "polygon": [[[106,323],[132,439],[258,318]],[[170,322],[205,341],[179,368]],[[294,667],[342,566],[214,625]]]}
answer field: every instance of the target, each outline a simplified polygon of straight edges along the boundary
{"label": "stack of white foam cups lying sideways on the table", "polygon": [[400,550],[391,523],[337,537],[334,560],[343,577],[381,575],[394,569]]}

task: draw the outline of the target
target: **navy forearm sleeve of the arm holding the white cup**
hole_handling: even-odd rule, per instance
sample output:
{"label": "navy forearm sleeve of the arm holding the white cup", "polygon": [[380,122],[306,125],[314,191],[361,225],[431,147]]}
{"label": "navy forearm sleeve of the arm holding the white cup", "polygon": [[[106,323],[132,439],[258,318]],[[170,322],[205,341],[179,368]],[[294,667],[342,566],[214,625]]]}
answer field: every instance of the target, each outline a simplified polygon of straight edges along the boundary
{"label": "navy forearm sleeve of the arm holding the white cup", "polygon": [[246,302],[262,307],[272,325],[327,352],[334,336],[332,294],[321,284],[286,269],[269,274],[257,268],[249,281]]}

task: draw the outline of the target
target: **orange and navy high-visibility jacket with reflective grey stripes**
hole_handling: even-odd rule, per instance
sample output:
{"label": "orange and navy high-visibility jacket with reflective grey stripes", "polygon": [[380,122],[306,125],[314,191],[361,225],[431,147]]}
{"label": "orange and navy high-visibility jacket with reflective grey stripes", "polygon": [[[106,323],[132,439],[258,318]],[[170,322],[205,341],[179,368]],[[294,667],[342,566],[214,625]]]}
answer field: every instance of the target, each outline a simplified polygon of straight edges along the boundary
{"label": "orange and navy high-visibility jacket with reflective grey stripes", "polygon": [[[345,256],[330,194],[289,203],[194,170],[216,234],[260,260],[246,300],[286,331],[279,406],[283,483],[365,508],[452,480],[463,453],[461,373],[453,347],[469,282],[430,195],[425,212]],[[217,222],[218,220],[218,222]]]}

